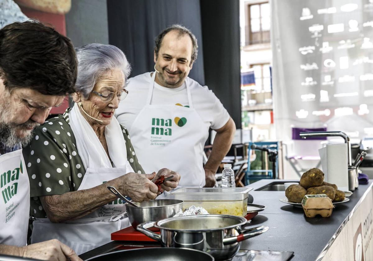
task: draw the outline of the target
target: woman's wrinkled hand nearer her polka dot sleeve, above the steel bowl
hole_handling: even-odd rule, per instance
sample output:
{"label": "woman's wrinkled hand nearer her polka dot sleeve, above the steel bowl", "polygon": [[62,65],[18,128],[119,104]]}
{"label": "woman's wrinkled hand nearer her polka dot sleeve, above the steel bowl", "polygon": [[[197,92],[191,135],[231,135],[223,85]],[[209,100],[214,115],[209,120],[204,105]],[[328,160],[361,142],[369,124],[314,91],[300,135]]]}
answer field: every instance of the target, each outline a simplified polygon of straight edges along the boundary
{"label": "woman's wrinkled hand nearer her polka dot sleeve, above the steel bowl", "polygon": [[129,172],[123,176],[116,178],[116,183],[119,183],[118,188],[123,195],[130,196],[132,201],[142,202],[155,199],[158,192],[158,187],[151,179],[156,176],[156,173],[138,174]]}

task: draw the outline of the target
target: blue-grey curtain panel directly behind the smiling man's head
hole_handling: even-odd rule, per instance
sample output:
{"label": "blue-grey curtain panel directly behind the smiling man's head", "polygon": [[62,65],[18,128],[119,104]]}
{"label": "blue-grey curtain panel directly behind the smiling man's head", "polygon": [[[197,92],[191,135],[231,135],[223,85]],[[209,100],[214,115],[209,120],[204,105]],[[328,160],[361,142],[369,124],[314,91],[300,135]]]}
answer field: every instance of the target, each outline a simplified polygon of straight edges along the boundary
{"label": "blue-grey curtain panel directly behind the smiling man's head", "polygon": [[189,77],[204,85],[199,0],[107,0],[109,43],[119,47],[132,65],[131,76],[154,71],[154,39],[167,26],[180,23],[199,45]]}

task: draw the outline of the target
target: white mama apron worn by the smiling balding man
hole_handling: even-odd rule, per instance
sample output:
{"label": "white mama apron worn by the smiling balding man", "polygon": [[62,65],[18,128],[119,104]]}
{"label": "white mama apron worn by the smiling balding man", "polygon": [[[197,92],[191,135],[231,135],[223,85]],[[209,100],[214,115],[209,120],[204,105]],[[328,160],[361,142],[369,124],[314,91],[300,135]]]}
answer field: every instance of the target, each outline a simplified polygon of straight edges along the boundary
{"label": "white mama apron worn by the smiling balding man", "polygon": [[206,179],[202,153],[209,128],[193,109],[189,79],[185,81],[189,108],[151,105],[155,76],[154,72],[147,102],[129,131],[137,158],[145,173],[162,168],[179,172],[178,188],[203,187]]}

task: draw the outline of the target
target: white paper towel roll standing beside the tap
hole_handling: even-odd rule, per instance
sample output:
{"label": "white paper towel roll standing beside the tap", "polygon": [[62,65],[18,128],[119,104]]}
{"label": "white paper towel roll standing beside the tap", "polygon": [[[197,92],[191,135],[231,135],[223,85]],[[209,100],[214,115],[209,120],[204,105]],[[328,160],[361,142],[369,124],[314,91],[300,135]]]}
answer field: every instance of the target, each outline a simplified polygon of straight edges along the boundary
{"label": "white paper towel roll standing beside the tap", "polygon": [[327,144],[319,150],[324,180],[348,191],[347,144]]}

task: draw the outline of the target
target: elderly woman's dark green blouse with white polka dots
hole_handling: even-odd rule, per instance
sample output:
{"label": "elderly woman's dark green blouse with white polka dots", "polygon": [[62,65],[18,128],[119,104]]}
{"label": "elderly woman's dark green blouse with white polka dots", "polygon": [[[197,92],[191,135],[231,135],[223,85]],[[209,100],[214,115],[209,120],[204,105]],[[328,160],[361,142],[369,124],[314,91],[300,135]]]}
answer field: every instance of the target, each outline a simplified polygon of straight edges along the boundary
{"label": "elderly woman's dark green blouse with white polka dots", "polygon": [[[46,217],[39,196],[61,195],[77,191],[85,174],[69,125],[69,111],[47,120],[35,129],[30,144],[23,148],[23,157],[30,180],[30,214]],[[129,133],[121,125],[126,142],[127,160],[137,173],[144,173],[137,160]]]}

